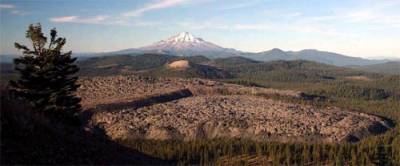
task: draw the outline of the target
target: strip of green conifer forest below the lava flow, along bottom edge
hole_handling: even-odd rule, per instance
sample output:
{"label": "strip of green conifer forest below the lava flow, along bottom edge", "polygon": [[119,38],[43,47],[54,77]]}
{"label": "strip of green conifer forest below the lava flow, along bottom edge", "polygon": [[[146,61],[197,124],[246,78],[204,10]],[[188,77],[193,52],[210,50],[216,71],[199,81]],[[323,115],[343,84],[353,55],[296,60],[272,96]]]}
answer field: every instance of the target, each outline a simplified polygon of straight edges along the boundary
{"label": "strip of green conifer forest below the lava flow, along bottom edge", "polygon": [[393,149],[391,145],[387,146],[383,141],[340,145],[283,144],[231,139],[191,142],[125,140],[121,143],[146,154],[176,161],[182,165],[223,164],[237,160],[243,155],[250,157],[242,158],[233,165],[241,165],[241,162],[248,163],[255,157],[267,158],[267,163],[271,165],[397,165],[396,160],[399,160],[399,150]]}

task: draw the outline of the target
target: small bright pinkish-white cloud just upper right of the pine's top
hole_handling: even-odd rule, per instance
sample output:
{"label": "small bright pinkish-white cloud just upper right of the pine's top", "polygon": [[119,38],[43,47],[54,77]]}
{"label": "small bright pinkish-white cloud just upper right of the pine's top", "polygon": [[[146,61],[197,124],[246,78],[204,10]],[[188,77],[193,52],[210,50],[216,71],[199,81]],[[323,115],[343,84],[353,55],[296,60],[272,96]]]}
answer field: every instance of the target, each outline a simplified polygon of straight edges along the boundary
{"label": "small bright pinkish-white cloud just upper right of the pine's top", "polygon": [[98,15],[94,17],[81,18],[79,16],[62,16],[50,18],[51,22],[56,23],[83,23],[83,24],[103,24],[108,16]]}

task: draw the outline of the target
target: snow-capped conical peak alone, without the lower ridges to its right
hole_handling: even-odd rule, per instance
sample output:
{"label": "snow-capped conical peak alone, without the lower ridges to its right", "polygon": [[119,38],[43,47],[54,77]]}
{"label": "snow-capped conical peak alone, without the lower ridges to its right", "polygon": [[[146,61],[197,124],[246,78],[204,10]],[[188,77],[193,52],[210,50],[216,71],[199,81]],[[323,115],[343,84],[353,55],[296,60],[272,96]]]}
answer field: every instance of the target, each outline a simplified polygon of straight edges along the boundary
{"label": "snow-capped conical peak alone, without the lower ridges to its right", "polygon": [[204,55],[211,58],[239,56],[241,53],[235,49],[223,48],[201,38],[194,37],[189,32],[181,32],[149,46],[138,49],[126,49],[119,52],[163,53],[176,56]]}

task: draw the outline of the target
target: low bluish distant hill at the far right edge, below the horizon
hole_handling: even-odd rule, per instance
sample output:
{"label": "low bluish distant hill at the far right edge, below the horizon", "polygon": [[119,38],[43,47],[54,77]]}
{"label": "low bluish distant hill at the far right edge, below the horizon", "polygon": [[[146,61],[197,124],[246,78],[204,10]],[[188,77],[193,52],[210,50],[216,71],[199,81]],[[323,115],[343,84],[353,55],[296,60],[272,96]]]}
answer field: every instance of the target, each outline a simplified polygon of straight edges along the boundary
{"label": "low bluish distant hill at the far right edge, below the horizon", "polygon": [[395,61],[374,65],[354,66],[353,68],[375,73],[400,74],[400,62]]}

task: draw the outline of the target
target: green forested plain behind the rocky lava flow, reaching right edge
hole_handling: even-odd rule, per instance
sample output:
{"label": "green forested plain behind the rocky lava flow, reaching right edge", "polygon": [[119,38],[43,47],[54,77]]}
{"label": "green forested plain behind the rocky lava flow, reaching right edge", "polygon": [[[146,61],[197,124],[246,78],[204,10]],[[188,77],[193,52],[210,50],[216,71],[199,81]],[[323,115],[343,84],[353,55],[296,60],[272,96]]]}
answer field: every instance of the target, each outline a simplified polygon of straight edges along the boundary
{"label": "green forested plain behind the rocky lava flow, reaching right edge", "polygon": [[330,98],[400,98],[398,75],[367,73],[310,61],[273,61],[223,69],[234,77],[224,81],[242,85],[295,89]]}

